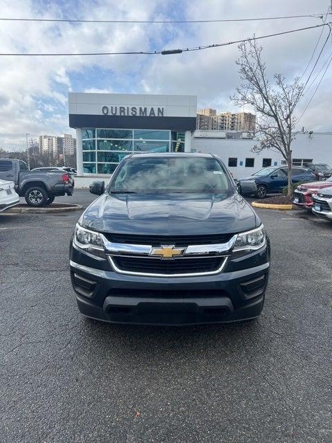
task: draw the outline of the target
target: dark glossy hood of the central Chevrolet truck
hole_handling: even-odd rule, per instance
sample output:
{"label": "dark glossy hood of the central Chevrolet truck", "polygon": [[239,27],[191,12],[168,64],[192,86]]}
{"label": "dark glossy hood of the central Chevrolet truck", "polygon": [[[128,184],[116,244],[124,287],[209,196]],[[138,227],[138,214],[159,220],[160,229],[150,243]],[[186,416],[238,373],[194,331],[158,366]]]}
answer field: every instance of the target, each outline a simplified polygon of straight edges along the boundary
{"label": "dark glossy hood of the central Chevrolet truck", "polygon": [[203,235],[239,233],[261,221],[240,195],[104,194],[85,210],[82,226],[105,233]]}

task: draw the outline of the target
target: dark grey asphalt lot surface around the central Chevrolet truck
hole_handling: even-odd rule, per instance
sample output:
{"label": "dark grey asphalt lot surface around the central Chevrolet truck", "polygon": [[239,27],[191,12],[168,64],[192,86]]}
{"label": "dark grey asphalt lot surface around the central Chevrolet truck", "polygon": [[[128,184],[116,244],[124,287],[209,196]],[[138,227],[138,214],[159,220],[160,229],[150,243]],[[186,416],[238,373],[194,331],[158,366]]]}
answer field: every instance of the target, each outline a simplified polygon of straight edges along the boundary
{"label": "dark grey asphalt lot surface around the central Chevrolet truck", "polygon": [[81,212],[0,215],[1,442],[331,443],[331,223],[257,211],[273,255],[256,322],[133,327],[77,311]]}

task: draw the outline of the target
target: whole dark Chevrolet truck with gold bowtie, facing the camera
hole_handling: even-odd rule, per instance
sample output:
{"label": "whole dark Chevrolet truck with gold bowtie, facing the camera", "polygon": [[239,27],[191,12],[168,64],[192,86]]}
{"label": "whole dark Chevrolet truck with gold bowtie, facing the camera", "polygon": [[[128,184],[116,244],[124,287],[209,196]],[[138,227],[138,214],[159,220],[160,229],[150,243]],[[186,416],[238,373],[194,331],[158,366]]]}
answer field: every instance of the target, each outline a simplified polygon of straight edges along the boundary
{"label": "whole dark Chevrolet truck with gold bowtie, facing the camera", "polygon": [[264,305],[270,244],[212,154],[131,154],[78,221],[71,281],[84,316],[222,323]]}

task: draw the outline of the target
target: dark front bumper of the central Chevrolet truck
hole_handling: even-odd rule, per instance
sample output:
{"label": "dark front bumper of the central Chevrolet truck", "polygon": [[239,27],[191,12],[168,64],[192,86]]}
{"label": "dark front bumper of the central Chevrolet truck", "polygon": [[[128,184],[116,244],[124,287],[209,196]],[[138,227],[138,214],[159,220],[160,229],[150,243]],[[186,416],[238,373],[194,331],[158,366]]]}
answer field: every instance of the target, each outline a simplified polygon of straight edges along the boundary
{"label": "dark front bumper of the central Chevrolet truck", "polygon": [[[91,266],[93,265],[93,266]],[[71,247],[71,281],[84,316],[111,323],[192,325],[255,318],[264,305],[270,246],[230,260],[216,275],[124,275]]]}

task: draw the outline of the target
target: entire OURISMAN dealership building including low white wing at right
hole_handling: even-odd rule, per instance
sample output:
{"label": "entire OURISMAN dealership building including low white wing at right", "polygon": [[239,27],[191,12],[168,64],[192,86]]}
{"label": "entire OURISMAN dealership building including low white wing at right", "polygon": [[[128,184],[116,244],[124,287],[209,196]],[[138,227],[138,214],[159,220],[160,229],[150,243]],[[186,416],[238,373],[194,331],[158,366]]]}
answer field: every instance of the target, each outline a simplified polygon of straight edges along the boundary
{"label": "entire OURISMAN dealership building including low white wing at right", "polygon": [[[254,150],[250,132],[195,130],[196,96],[69,93],[69,125],[76,129],[77,185],[110,176],[133,152],[210,152],[235,178],[266,166],[284,165],[275,150]],[[332,166],[331,132],[297,132],[293,165]]]}

